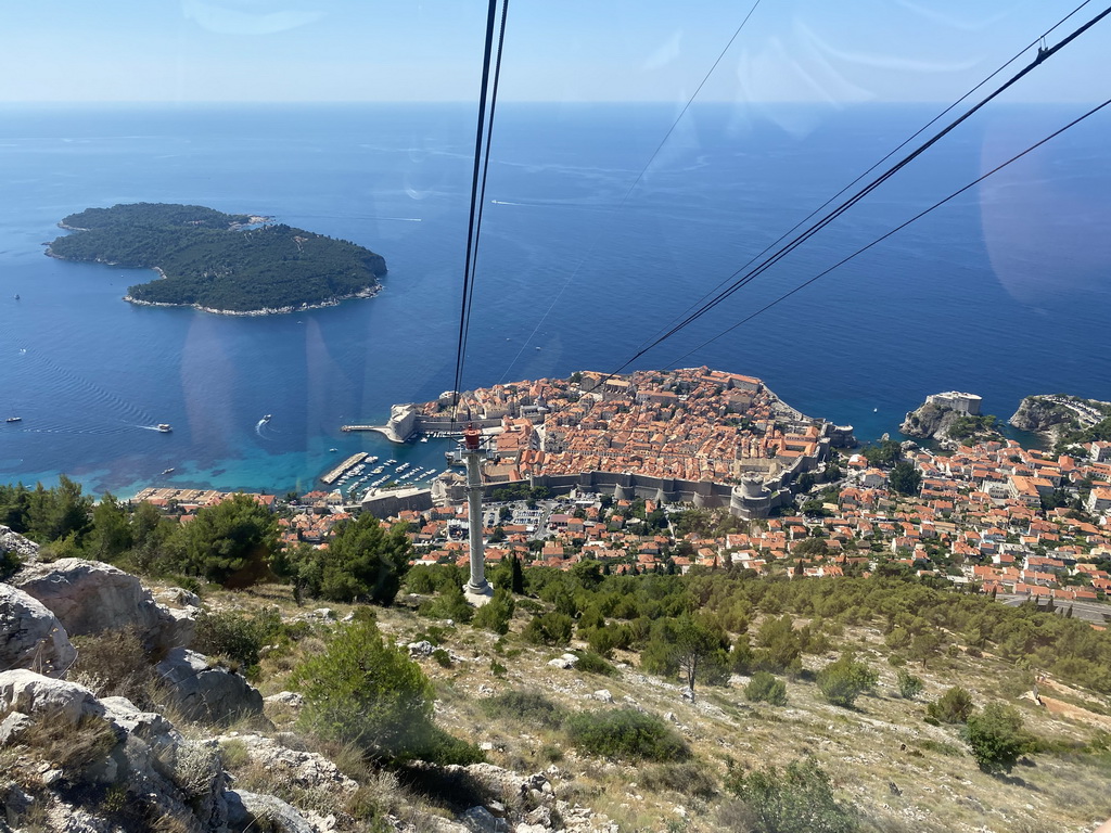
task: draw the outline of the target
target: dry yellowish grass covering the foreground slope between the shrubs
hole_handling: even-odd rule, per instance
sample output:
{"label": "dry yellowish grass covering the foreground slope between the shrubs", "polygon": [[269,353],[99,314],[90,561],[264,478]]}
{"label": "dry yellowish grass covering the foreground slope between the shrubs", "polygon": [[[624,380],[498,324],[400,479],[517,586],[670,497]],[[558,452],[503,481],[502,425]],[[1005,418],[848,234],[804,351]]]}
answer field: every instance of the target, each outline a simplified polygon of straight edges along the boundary
{"label": "dry yellowish grass covering the foreground slope between the shrubs", "polygon": [[[280,593],[260,593],[249,602],[259,606],[278,603],[287,616],[312,610],[311,604],[298,609],[288,600],[282,602]],[[349,610],[344,605],[330,606],[340,618]],[[397,642],[412,641],[430,626],[442,625],[401,608],[376,612],[383,633]],[[699,701],[691,704],[680,699],[678,681],[641,674],[632,654],[618,652],[617,678],[549,668],[548,660],[563,650],[521,642],[519,634],[529,618],[519,611],[511,633],[503,640],[468,626],[438,632],[441,645],[461,661],[444,669],[431,658],[421,660],[422,669],[436,684],[437,721],[463,740],[491,744],[487,752],[491,763],[522,774],[546,771],[554,763],[560,770],[560,775],[552,777],[557,797],[604,813],[622,831],[743,831],[743,809],[720,792],[727,763],[783,766],[805,755],[814,756],[841,795],[860,809],[868,831],[1080,833],[1111,815],[1107,789],[1111,773],[1094,763],[1091,755],[1042,754],[1033,759],[1032,766],[1017,767],[1009,779],[992,777],[981,773],[967,754],[959,727],[923,722],[925,703],[959,684],[981,704],[1002,700],[1015,705],[1028,729],[1041,737],[1074,744],[1092,737],[1095,726],[1082,714],[1051,714],[1029,700],[1018,699],[1029,686],[1029,673],[994,658],[958,653],[932,659],[925,669],[908,666],[923,679],[924,690],[917,699],[904,700],[898,695],[897,669],[887,662],[890,651],[883,645],[883,634],[873,628],[847,628],[838,643],[851,643],[858,659],[880,675],[875,692],[860,697],[852,711],[827,703],[805,679],[787,679],[789,701],[782,707],[749,704],[743,696],[747,678],[734,678],[723,688],[703,688]],[[289,671],[302,658],[319,653],[334,626],[334,622],[313,621],[311,635],[294,643],[281,658],[266,658],[263,691],[289,688]],[[753,623],[755,626],[758,623]],[[835,656],[804,656],[804,665],[813,672]],[[504,674],[491,673],[493,660],[507,668]],[[602,688],[612,693],[612,706],[591,697]],[[570,712],[630,705],[657,714],[671,712],[675,727],[694,751],[695,765],[707,777],[592,760],[571,750],[559,729],[489,714],[482,709],[482,701],[496,694],[526,689],[543,692]],[[1087,692],[1069,692],[1068,696],[1089,702],[1093,713],[1111,712],[1107,699]],[[288,726],[294,715],[291,711],[272,711],[270,716]],[[339,754],[337,750],[320,751],[330,756]],[[352,810],[368,803],[379,809],[376,812],[411,806],[413,796],[406,791],[398,792],[366,772],[352,777],[362,784]],[[680,805],[687,812],[685,820],[675,813]],[[417,815],[423,812],[432,809],[426,805]]]}

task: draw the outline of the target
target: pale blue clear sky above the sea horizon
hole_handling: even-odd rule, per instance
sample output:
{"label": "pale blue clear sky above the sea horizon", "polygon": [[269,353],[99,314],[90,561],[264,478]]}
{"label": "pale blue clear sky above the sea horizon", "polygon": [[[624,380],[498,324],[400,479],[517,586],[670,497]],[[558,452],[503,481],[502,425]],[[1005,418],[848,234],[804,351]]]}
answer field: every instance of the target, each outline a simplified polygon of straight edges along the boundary
{"label": "pale blue clear sky above the sea horizon", "polygon": [[[685,101],[751,4],[514,0],[503,100]],[[950,101],[1077,4],[761,0],[700,98]],[[0,101],[470,101],[484,22],[479,0],[12,3]],[[1011,99],[1102,100],[1109,56],[1111,19]]]}

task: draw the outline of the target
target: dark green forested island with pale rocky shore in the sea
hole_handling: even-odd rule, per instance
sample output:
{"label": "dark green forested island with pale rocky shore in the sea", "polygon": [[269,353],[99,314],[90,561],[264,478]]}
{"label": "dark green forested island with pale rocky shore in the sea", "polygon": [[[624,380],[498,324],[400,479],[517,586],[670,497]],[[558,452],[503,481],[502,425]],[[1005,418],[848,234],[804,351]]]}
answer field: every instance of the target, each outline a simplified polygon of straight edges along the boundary
{"label": "dark green forested island with pale rocky shore in the sea", "polygon": [[50,242],[47,254],[153,269],[160,278],[129,287],[124,300],[229,314],[291,312],[378,291],[380,254],[266,220],[202,205],[91,208],[59,223],[76,233]]}

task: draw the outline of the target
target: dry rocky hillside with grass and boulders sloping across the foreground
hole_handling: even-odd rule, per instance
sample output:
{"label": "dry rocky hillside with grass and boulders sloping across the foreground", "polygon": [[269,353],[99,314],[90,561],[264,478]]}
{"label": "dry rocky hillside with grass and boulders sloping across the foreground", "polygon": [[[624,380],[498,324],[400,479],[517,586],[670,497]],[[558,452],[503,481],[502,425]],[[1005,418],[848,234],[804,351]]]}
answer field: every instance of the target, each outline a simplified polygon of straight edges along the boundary
{"label": "dry rocky hillside with grass and boulders sloping across the foreground", "polygon": [[[632,652],[607,663],[577,640],[524,640],[531,611],[550,610],[541,600],[519,596],[499,635],[403,595],[374,610],[374,628],[430,681],[437,724],[486,761],[383,766],[302,720],[300,670],[367,608],[307,610],[278,586],[206,588],[201,604],[106,564],[37,563],[21,546],[24,565],[0,584],[0,831],[1090,833],[1111,814],[1108,697],[1048,678],[1031,692],[1029,672],[958,646],[957,633],[950,651],[904,666],[892,645],[917,626],[907,611],[889,632],[830,604],[823,628],[840,651],[803,654],[778,693],[734,673],[695,697]],[[737,624],[764,633],[782,621],[769,610]],[[242,633],[220,638],[248,658],[250,683],[193,650],[214,644],[213,620],[267,623],[253,655],[237,648]],[[845,652],[875,678],[849,707],[821,689]],[[954,685],[1021,713],[1038,753],[1009,776],[982,771],[960,729],[928,710]],[[618,743],[607,726],[632,731]],[[813,824],[767,823],[788,799]]]}

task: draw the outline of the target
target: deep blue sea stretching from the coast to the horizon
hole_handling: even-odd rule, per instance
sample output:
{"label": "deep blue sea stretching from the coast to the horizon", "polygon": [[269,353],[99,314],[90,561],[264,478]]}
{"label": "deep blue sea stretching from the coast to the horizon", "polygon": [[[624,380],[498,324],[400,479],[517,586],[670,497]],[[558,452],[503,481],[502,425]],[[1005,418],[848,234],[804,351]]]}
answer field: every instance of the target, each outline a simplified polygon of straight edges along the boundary
{"label": "deep blue sea stretching from the coast to the horizon", "polygon": [[[645,170],[673,107],[502,106],[463,387],[617,369],[938,109],[695,106]],[[983,113],[633,367],[757,375],[863,440],[942,390],[1003,418],[1030,393],[1111,399],[1103,113],[710,341],[1081,111]],[[442,443],[339,428],[451,387],[473,121],[459,104],[0,108],[0,418],[22,418],[0,423],[0,482],[283,493],[357,450],[442,461]],[[43,257],[64,215],[137,201],[352,240],[386,258],[383,291],[220,317],[120,300],[148,272]]]}

